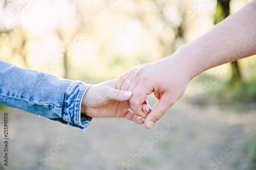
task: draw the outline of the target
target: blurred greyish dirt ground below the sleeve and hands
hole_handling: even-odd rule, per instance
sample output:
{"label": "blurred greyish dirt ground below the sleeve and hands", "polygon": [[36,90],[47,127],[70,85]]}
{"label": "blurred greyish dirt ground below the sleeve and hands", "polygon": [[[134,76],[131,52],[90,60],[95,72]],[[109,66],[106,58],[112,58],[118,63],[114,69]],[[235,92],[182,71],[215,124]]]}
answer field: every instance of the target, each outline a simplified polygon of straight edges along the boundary
{"label": "blurred greyish dirt ground below the sleeve and hands", "polygon": [[[153,101],[154,102],[154,101]],[[94,118],[86,132],[8,108],[9,159],[0,169],[248,169],[256,111],[236,113],[180,100],[147,130],[122,118]]]}

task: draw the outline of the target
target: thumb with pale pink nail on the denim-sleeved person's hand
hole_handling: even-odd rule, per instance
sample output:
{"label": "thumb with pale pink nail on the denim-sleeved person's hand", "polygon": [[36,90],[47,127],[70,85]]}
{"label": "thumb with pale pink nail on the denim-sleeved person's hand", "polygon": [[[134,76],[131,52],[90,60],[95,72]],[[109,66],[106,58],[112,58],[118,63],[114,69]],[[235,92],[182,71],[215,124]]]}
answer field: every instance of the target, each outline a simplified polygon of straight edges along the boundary
{"label": "thumb with pale pink nail on the denim-sleeved person's hand", "polygon": [[116,101],[127,101],[131,98],[133,92],[132,91],[126,91],[126,90],[118,90],[111,88],[109,90],[109,93],[106,94],[106,98],[109,100],[116,100]]}

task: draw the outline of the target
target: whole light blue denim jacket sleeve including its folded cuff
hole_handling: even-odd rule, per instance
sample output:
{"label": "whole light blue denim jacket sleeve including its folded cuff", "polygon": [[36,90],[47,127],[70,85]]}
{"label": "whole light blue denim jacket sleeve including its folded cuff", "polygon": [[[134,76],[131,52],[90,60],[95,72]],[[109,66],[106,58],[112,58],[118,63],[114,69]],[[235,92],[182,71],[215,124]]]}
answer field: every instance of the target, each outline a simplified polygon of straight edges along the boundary
{"label": "whole light blue denim jacket sleeve including its folded cuff", "polygon": [[81,101],[91,85],[0,61],[0,104],[87,130],[91,117],[81,116]]}

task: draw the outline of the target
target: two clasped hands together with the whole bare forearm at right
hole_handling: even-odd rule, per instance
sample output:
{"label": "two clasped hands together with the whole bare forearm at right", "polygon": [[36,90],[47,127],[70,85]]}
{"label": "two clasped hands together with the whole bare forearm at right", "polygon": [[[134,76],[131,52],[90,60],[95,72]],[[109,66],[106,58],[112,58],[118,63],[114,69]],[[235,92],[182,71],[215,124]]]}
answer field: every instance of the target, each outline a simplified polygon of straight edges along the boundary
{"label": "two clasped hands together with the whole bare forearm at right", "polygon": [[[195,76],[256,54],[252,38],[256,28],[255,5],[256,1],[252,1],[200,38],[182,45],[170,57],[126,71],[116,82],[90,87],[84,95],[81,113],[91,117],[125,117],[151,128],[181,98]],[[232,31],[227,33],[227,29]],[[147,95],[153,92],[159,101],[145,114]]]}

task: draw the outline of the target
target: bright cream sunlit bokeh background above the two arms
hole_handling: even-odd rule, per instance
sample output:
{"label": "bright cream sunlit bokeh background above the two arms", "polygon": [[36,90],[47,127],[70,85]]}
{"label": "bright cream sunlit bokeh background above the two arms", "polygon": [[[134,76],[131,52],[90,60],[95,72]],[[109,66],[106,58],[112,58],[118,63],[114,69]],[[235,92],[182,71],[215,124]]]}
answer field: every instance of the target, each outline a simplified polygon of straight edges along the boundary
{"label": "bright cream sunlit bokeh background above the two arms", "polygon": [[[231,13],[248,1],[232,1]],[[0,59],[70,79],[115,79],[214,27],[216,1],[2,1]],[[184,30],[177,37],[177,29]],[[68,63],[66,66],[63,63]],[[57,65],[57,66],[55,66]]]}

